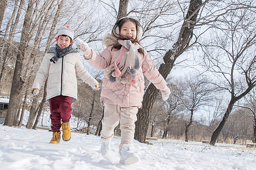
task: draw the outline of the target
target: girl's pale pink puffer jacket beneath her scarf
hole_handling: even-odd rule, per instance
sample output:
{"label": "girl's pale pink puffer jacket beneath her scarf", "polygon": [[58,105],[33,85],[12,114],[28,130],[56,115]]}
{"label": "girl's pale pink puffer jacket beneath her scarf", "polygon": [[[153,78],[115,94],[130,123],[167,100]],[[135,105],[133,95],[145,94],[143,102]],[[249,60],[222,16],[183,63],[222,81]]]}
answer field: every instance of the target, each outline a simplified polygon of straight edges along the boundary
{"label": "girl's pale pink puffer jacket beneath her scarf", "polygon": [[[119,50],[112,49],[112,46],[108,46],[101,54],[97,54],[92,50],[92,57],[86,59],[86,61],[95,69],[102,70],[113,64],[118,54]],[[144,56],[141,53],[138,53],[138,56],[140,67],[137,71],[139,74],[135,85],[131,83],[130,76],[126,84],[118,83],[117,81],[110,82],[104,76],[101,91],[101,102],[103,104],[118,104],[121,107],[142,107],[144,76],[159,90],[168,91],[166,80],[160,75],[146,50],[144,50]]]}

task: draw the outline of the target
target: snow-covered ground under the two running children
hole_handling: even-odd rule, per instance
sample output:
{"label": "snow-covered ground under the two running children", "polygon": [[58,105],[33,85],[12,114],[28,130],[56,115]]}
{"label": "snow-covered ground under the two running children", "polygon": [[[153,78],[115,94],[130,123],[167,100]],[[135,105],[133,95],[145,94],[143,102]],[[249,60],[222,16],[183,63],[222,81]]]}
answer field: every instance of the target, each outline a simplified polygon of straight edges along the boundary
{"label": "snow-covered ground under the two running children", "polygon": [[184,142],[171,139],[134,141],[140,160],[119,164],[120,139],[112,141],[112,156],[100,153],[100,137],[72,133],[71,141],[49,144],[52,133],[0,125],[0,169],[255,169],[256,149],[241,145]]}

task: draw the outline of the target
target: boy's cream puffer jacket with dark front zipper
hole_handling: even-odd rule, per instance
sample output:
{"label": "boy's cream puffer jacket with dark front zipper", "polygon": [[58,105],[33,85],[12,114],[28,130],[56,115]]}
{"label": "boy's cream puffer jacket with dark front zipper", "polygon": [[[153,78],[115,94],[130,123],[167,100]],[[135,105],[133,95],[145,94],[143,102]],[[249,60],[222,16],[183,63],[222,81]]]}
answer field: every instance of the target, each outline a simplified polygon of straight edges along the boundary
{"label": "boy's cream puffer jacket with dark front zipper", "polygon": [[42,84],[47,82],[47,100],[52,97],[63,95],[73,97],[77,100],[77,78],[79,76],[91,87],[98,84],[97,80],[85,70],[81,62],[80,54],[77,52],[68,53],[56,63],[50,61],[55,53],[46,53],[40,65],[32,88],[40,89]]}

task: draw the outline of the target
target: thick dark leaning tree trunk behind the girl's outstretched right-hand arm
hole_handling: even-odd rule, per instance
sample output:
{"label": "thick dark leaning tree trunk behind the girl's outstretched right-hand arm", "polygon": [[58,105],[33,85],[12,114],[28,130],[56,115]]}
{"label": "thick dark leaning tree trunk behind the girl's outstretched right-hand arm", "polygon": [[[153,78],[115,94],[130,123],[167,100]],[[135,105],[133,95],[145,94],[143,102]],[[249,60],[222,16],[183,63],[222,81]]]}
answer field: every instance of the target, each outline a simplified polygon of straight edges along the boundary
{"label": "thick dark leaning tree trunk behind the girl's outstretched right-hand arm", "polygon": [[[172,67],[174,67],[176,58],[189,48],[189,42],[193,36],[193,28],[196,24],[197,14],[199,13],[201,4],[201,0],[190,1],[185,21],[179,33],[179,38],[173,48],[168,50],[164,55],[164,63],[162,63],[159,68],[159,73],[162,74],[164,79],[166,79],[168,74],[170,74]],[[154,104],[158,91],[159,90],[155,88],[154,84],[151,83],[143,96],[143,107],[139,109],[137,114],[138,120],[135,122],[136,128],[134,138],[139,142],[145,142],[148,124],[150,122],[150,115],[152,112],[152,105]]]}

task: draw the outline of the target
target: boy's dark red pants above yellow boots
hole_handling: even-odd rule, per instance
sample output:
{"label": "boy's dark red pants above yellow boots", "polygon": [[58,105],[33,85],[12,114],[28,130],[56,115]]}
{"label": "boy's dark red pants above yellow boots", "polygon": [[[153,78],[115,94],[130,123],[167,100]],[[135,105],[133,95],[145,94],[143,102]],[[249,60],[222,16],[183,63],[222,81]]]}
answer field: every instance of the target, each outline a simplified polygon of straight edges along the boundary
{"label": "boy's dark red pants above yellow boots", "polygon": [[52,121],[52,131],[59,132],[61,127],[61,120],[65,123],[71,118],[71,104],[72,97],[69,96],[56,96],[49,99],[49,106],[51,110],[51,121]]}

